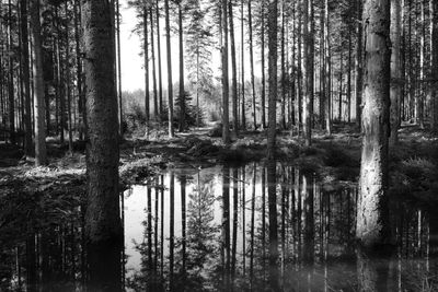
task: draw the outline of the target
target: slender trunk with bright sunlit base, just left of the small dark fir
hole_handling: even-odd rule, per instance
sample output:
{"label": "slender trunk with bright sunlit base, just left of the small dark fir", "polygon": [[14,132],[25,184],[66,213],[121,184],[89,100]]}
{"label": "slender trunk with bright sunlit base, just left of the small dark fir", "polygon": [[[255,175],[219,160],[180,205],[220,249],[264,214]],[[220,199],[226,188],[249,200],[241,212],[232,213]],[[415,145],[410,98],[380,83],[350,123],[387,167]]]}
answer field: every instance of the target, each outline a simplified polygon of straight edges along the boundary
{"label": "slender trunk with bright sunlit base, just left of the small dark fir", "polygon": [[168,116],[169,116],[169,138],[173,138],[173,81],[172,81],[172,48],[171,48],[171,24],[169,15],[169,0],[164,1],[165,10],[165,43],[168,52]]}

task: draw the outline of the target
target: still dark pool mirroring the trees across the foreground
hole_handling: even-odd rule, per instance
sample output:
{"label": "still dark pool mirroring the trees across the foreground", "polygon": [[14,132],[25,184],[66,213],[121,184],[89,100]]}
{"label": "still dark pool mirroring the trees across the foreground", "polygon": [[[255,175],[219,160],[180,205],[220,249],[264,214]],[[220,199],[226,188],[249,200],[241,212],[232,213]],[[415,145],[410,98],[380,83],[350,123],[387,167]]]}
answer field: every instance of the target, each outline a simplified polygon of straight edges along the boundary
{"label": "still dark pool mirroring the trees across the foreground", "polygon": [[[120,199],[126,291],[438,291],[434,212],[391,203],[392,255],[356,248],[357,188],[277,164],[174,168]],[[0,288],[81,291],[81,214],[2,250]],[[30,244],[31,242],[31,244]],[[34,243],[34,246],[32,245]],[[31,245],[31,246],[30,246]],[[0,247],[2,248],[2,247]],[[3,248],[4,249],[4,248]],[[31,275],[31,276],[30,276]]]}

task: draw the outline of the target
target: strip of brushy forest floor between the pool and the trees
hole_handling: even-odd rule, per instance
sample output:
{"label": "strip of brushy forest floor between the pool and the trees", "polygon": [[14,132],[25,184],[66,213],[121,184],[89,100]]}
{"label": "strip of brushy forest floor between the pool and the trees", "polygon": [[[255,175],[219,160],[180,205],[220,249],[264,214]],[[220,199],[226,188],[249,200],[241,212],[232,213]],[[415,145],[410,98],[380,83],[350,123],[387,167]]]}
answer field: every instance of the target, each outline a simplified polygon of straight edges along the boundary
{"label": "strip of brushy forest floor between the pool and the trees", "polygon": [[[208,167],[217,164],[244,164],[265,162],[266,135],[263,131],[241,133],[226,147],[215,129],[199,128],[187,133],[176,133],[173,139],[154,132],[149,139],[126,138],[120,143],[120,184],[123,188],[141,184],[160,170],[193,166]],[[361,136],[354,125],[335,125],[334,133],[313,132],[312,147],[306,147],[290,132],[279,131],[278,161],[297,165],[301,171],[316,174],[328,188],[336,184],[356,184],[360,168]],[[50,192],[53,196],[83,194],[85,190],[84,144],[74,144],[72,154],[67,147],[48,140],[49,164],[35,167],[25,161],[16,147],[0,144],[0,201],[10,194]],[[422,192],[431,198],[438,189],[438,140],[415,126],[400,130],[400,142],[390,150],[391,185],[396,191]],[[401,186],[405,186],[400,189]],[[0,222],[1,226],[1,222]]]}

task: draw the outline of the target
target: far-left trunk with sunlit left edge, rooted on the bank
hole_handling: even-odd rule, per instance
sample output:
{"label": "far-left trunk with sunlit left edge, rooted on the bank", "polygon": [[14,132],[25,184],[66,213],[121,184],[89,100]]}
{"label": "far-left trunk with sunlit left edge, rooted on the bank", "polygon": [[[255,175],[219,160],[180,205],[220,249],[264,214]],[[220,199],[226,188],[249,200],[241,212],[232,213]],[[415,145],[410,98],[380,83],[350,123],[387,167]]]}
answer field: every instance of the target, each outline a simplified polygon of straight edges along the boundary
{"label": "far-left trunk with sunlit left edge, rooted on the bank", "polygon": [[35,165],[47,163],[45,98],[43,79],[43,47],[41,36],[39,0],[32,0],[30,5],[33,36],[33,82],[34,82],[34,118],[35,118]]}

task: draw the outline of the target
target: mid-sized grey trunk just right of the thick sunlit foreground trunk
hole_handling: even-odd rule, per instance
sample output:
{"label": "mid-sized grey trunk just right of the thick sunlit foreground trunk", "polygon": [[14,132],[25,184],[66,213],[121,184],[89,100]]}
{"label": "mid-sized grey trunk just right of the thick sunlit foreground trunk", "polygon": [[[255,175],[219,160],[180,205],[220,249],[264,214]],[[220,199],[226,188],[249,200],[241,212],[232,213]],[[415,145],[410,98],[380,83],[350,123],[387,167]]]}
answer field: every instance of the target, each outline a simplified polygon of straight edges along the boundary
{"label": "mid-sized grey trunk just right of the thick sunlit foreground trunk", "polygon": [[401,58],[400,58],[400,46],[401,46],[401,5],[400,0],[391,0],[391,136],[390,144],[394,145],[397,142],[399,131],[399,119],[400,119],[400,97],[402,93],[402,81],[401,81]]}

